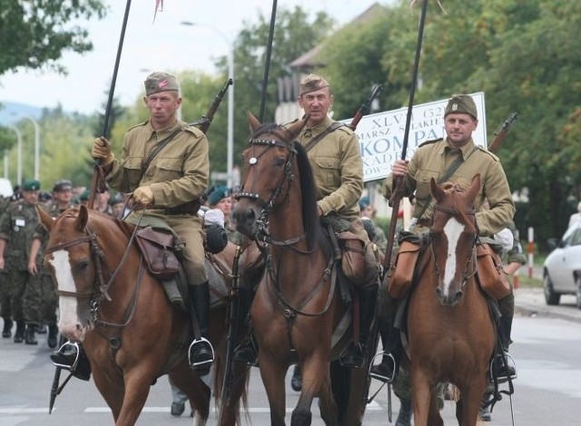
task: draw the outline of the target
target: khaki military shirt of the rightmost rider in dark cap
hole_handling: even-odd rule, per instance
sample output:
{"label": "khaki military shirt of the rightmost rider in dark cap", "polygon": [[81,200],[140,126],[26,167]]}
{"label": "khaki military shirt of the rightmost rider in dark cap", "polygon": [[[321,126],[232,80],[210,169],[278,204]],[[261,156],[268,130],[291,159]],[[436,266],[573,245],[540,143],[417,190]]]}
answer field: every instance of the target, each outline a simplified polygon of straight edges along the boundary
{"label": "khaki military shirt of the rightmost rider in dark cap", "polygon": [[[438,182],[438,178],[445,174],[449,166],[460,155],[463,163],[452,173],[448,181],[468,185],[472,178],[480,173],[480,191],[475,208],[480,235],[492,236],[502,231],[512,221],[515,214],[515,203],[508,187],[507,176],[495,154],[486,148],[468,141],[459,150],[452,149],[448,139],[430,141],[419,146],[408,165],[408,174],[405,178],[404,195],[415,193],[416,205],[413,217],[417,219],[431,219],[431,195],[429,193],[430,178]],[[391,195],[392,176],[383,182],[383,194]],[[480,210],[485,199],[490,204],[489,210]],[[421,215],[421,217],[420,217]]]}

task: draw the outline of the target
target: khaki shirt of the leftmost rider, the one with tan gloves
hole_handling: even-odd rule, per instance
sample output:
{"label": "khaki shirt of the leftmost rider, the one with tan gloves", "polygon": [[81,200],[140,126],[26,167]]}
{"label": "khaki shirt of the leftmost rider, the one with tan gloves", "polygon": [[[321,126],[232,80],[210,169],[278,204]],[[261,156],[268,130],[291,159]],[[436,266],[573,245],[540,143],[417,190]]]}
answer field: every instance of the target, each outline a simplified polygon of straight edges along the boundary
{"label": "khaki shirt of the leftmost rider, the one with tan gloves", "polygon": [[[178,127],[176,134],[143,173],[142,165],[153,148]],[[151,186],[155,207],[176,207],[202,196],[210,170],[208,140],[199,129],[177,120],[153,130],[149,120],[131,128],[124,137],[119,161],[113,161],[107,182],[122,193]]]}

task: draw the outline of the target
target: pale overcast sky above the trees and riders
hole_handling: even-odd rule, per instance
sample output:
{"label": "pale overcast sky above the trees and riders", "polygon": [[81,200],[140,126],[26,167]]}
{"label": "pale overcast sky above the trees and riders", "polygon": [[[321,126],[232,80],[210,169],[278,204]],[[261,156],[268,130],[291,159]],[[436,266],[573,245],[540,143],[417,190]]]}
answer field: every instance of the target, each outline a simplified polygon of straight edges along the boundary
{"label": "pale overcast sky above the trees and riders", "polygon": [[[94,50],[65,53],[60,60],[67,75],[25,72],[0,76],[0,103],[16,102],[38,107],[61,104],[66,112],[93,114],[102,110],[110,90],[126,2],[105,0],[110,13],[103,20],[84,23]],[[280,0],[282,7],[300,5],[313,13],[325,11],[340,24],[350,22],[374,3],[383,0]],[[123,51],[114,89],[121,104],[133,104],[143,80],[152,71],[180,72],[196,69],[215,72],[214,59],[228,53],[231,41],[244,26],[255,24],[259,14],[270,21],[271,0],[164,0],[153,23],[155,0],[133,0],[123,40]],[[183,21],[195,26],[181,25]],[[235,80],[235,69],[234,69]]]}

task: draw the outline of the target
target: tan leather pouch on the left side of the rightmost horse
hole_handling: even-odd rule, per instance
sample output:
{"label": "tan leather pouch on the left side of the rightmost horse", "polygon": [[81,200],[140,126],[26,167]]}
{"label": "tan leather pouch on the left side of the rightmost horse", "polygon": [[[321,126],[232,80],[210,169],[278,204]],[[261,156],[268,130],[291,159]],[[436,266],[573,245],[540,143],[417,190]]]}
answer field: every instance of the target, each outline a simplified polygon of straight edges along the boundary
{"label": "tan leather pouch on the left side of the rightmost horse", "polygon": [[388,292],[393,299],[408,292],[419,258],[419,243],[401,241],[396,259],[387,274]]}

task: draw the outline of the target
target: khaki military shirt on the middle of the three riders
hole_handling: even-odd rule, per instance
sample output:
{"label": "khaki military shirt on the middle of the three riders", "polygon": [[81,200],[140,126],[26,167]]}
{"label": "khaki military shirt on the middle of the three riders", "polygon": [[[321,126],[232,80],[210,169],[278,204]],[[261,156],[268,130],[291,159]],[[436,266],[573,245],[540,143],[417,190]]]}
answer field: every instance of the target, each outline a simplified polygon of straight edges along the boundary
{"label": "khaki military shirt on the middle of the three riders", "polygon": [[[305,127],[300,144],[327,129],[334,121],[327,117],[314,127]],[[363,191],[363,162],[357,135],[341,126],[325,135],[307,154],[317,185],[317,203],[324,214],[337,212],[352,221],[359,218],[359,198]]]}

